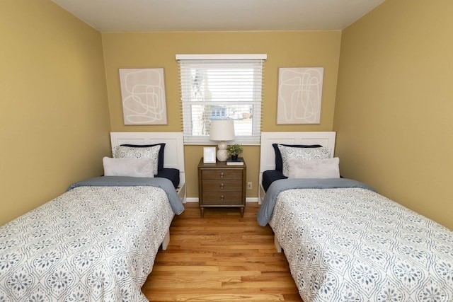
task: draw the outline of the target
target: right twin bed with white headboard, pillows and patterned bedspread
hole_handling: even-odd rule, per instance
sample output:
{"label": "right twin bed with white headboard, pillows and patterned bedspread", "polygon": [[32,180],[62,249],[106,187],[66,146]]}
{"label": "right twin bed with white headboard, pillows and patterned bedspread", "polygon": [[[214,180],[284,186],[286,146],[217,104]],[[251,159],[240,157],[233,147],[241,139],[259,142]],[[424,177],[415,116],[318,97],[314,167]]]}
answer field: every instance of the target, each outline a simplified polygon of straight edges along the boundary
{"label": "right twin bed with white headboard, pillows and patterned bedspread", "polygon": [[453,301],[453,232],[365,184],[323,178],[331,175],[334,145],[334,132],[261,138],[258,223],[273,228],[304,301]]}

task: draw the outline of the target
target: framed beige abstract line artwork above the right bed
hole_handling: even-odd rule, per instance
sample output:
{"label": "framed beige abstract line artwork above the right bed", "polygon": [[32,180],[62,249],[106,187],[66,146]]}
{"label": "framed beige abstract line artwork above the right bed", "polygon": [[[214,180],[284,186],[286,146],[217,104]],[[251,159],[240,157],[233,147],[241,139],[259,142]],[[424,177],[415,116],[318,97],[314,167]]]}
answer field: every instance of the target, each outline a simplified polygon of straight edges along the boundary
{"label": "framed beige abstract line artwork above the right bed", "polygon": [[319,124],[323,67],[278,69],[277,124]]}

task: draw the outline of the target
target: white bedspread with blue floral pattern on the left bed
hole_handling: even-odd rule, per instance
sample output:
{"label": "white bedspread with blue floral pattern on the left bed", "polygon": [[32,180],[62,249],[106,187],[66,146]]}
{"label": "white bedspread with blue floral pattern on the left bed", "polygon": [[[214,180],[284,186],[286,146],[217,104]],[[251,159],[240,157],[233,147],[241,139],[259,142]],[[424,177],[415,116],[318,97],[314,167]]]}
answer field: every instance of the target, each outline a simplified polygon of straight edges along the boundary
{"label": "white bedspread with blue floral pattern on the left bed", "polygon": [[159,187],[77,187],[0,227],[0,301],[147,301],[173,211]]}

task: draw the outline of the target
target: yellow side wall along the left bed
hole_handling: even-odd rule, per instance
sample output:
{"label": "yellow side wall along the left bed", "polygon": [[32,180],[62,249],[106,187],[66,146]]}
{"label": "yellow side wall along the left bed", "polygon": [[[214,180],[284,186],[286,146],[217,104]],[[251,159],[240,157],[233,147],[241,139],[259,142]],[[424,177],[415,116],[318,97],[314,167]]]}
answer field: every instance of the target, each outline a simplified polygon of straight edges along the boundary
{"label": "yellow side wall along the left bed", "polygon": [[110,153],[101,33],[49,0],[0,5],[0,225],[100,175]]}

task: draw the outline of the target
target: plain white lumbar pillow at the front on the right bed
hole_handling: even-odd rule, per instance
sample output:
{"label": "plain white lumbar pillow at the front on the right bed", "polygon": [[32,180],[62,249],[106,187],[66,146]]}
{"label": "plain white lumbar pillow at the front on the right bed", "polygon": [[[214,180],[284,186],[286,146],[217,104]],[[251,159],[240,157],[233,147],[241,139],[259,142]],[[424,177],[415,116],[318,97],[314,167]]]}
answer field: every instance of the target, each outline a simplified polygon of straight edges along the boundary
{"label": "plain white lumbar pillow at the front on the right bed", "polygon": [[290,159],[288,178],[340,178],[340,158],[300,161]]}

